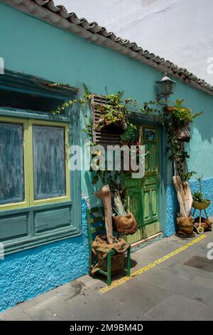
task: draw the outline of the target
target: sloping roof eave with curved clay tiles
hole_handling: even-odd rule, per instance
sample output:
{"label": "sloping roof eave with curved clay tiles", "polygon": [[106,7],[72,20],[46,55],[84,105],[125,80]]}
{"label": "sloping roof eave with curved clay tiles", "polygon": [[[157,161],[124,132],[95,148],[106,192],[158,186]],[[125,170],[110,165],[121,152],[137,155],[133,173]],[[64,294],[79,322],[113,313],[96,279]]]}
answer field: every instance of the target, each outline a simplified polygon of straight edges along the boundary
{"label": "sloping roof eave with curved clay tiles", "polygon": [[136,43],[116,37],[114,33],[109,33],[107,29],[95,22],[89,24],[86,19],[78,19],[75,13],[68,14],[65,7],[55,6],[52,0],[1,0],[1,2],[58,26],[60,29],[75,33],[99,46],[110,48],[148,66],[157,68],[158,71],[166,71],[173,78],[178,78],[178,80],[213,96],[213,86],[197,78],[185,68],[180,68],[170,61],[165,61],[164,58],[144,51]]}

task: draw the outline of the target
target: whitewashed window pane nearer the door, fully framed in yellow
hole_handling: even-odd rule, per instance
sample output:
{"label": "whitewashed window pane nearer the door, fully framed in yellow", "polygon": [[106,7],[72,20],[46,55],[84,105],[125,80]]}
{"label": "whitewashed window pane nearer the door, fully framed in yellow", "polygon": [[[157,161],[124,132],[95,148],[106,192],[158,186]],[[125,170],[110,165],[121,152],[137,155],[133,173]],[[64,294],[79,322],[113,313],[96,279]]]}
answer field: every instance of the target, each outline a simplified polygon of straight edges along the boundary
{"label": "whitewashed window pane nearer the door, fully framed in yellow", "polygon": [[61,197],[65,187],[65,130],[33,125],[35,200]]}

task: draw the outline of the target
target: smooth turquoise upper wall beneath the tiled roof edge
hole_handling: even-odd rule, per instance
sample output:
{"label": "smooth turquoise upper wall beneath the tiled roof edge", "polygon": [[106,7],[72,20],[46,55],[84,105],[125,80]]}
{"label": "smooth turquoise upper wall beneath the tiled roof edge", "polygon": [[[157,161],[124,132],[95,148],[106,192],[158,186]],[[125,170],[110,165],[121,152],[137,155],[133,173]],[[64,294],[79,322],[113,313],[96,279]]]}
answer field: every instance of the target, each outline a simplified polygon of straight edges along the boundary
{"label": "smooth turquoise upper wall beneath the tiled roof edge", "polygon": [[[94,93],[106,93],[106,87],[109,93],[124,91],[126,97],[136,98],[140,103],[155,99],[155,81],[162,74],[143,63],[4,4],[0,4],[0,29],[0,56],[9,70],[80,88],[86,83]],[[213,97],[178,81],[173,100],[176,98],[185,98],[195,111],[204,110],[192,130],[189,168],[212,177],[209,158],[213,158],[213,123],[209,123],[209,118],[212,118]],[[83,192],[87,193],[86,187]]]}

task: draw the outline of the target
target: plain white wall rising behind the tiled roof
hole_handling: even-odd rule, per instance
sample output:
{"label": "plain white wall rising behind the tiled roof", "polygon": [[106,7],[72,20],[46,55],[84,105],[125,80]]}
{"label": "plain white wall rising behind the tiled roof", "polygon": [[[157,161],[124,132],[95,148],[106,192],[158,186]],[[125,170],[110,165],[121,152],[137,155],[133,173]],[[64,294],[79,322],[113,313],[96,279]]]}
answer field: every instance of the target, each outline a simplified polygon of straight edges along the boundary
{"label": "plain white wall rising behind the tiled roof", "polygon": [[213,85],[212,0],[55,0]]}

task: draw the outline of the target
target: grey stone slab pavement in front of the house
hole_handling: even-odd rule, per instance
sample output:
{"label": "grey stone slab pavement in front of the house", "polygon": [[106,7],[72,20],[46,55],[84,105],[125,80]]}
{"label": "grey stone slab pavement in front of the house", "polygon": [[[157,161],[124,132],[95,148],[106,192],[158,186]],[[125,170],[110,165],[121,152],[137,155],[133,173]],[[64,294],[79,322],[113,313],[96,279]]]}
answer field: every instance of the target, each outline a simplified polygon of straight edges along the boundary
{"label": "grey stone slab pavement in front of the house", "polygon": [[[213,232],[205,234],[109,292],[99,292],[106,287],[100,279],[84,276],[18,304],[0,320],[213,320],[213,260],[207,260]],[[132,254],[131,272],[191,241],[173,236],[139,249]]]}

